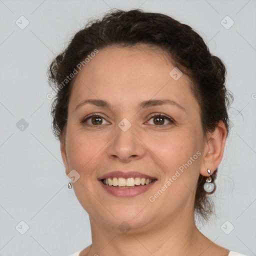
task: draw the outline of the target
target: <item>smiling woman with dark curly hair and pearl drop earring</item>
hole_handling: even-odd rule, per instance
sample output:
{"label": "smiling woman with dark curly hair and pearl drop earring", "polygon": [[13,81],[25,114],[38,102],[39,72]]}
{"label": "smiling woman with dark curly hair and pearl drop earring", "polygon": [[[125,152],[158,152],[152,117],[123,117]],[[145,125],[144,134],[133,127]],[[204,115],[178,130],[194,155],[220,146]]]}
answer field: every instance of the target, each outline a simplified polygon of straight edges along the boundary
{"label": "smiling woman with dark curly hair and pearl drop earring", "polygon": [[52,61],[53,130],[91,225],[73,255],[243,255],[194,221],[212,212],[225,71],[191,27],[138,9],[91,21]]}

